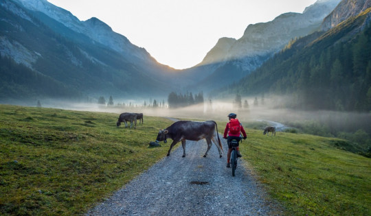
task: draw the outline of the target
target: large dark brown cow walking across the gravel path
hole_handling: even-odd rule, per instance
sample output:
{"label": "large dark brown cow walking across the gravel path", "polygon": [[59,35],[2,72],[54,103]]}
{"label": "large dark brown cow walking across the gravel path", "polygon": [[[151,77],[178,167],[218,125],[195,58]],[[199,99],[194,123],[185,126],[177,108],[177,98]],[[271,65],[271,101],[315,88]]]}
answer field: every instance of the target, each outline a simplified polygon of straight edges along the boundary
{"label": "large dark brown cow walking across the gravel path", "polygon": [[[216,140],[216,136],[218,140]],[[207,151],[204,157],[207,156],[207,152],[209,152],[210,147],[212,147],[212,142],[218,147],[219,156],[222,157],[223,147],[218,135],[218,125],[215,121],[177,121],[170,125],[170,127],[159,130],[156,143],[159,143],[159,141],[164,141],[164,143],[166,143],[166,139],[168,138],[172,139],[168,156],[170,155],[172,147],[180,141],[183,147],[183,157],[185,157],[186,140],[199,141],[201,139],[206,139]]]}

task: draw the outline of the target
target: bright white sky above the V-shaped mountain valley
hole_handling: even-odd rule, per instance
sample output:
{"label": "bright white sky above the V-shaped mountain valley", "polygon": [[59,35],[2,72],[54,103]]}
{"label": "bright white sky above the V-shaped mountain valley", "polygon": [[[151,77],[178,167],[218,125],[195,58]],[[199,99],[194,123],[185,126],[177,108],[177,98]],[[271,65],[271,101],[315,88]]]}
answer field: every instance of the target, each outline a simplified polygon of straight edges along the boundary
{"label": "bright white sky above the V-shaped mountain valley", "polygon": [[47,0],[80,21],[96,17],[157,62],[175,69],[199,64],[219,38],[240,38],[249,24],[316,0]]}

